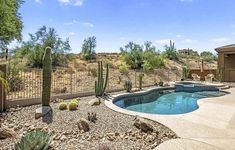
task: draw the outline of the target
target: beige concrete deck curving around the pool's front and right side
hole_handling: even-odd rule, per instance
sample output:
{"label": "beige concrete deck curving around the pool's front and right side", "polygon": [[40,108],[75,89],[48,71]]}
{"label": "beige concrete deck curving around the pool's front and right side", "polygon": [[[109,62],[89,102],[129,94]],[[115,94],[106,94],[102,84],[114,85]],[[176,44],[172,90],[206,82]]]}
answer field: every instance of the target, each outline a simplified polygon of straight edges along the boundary
{"label": "beige concrete deck curving around the pool's front and right side", "polygon": [[[198,141],[198,145],[201,146],[208,144],[214,149],[234,150],[235,88],[225,91],[230,92],[230,94],[201,99],[198,101],[199,109],[180,115],[157,115],[129,111],[114,105],[112,101],[105,101],[105,104],[120,113],[139,115],[162,123],[182,138],[179,145],[190,145],[190,140],[193,140],[192,144],[194,143],[194,145],[197,145],[195,141]],[[118,95],[112,96],[117,97]],[[185,139],[187,139],[187,142],[185,142]],[[171,142],[172,144],[169,144]],[[174,143],[174,140],[170,140],[168,144],[163,143],[159,148],[170,149],[170,145],[174,145]],[[169,147],[167,148],[167,146]],[[157,150],[160,150],[159,148]],[[185,149],[177,146],[175,148]],[[193,147],[188,147],[188,149],[193,149]],[[207,148],[205,147],[205,149]]]}

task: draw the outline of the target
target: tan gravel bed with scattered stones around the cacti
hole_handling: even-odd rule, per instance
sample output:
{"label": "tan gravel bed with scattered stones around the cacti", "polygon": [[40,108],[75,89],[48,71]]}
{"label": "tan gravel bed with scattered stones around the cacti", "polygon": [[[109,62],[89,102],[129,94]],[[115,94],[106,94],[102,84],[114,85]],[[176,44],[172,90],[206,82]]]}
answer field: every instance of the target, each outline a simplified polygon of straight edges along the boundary
{"label": "tan gravel bed with scattered stones around the cacti", "polygon": [[[16,139],[0,140],[0,149],[14,149],[14,144],[23,134],[35,129],[47,131],[53,139],[51,149],[58,150],[95,150],[101,143],[108,144],[113,150],[148,150],[166,140],[178,138],[169,128],[153,121],[150,122],[157,132],[144,133],[133,126],[135,117],[115,112],[103,102],[99,106],[90,106],[88,102],[93,98],[81,98],[76,111],[60,111],[59,104],[52,103],[51,123],[35,120],[34,112],[40,105],[11,109],[0,114],[2,124],[13,128],[18,135]],[[78,129],[77,122],[80,118],[87,118],[88,112],[95,112],[98,120],[96,123],[90,122],[90,131],[84,133]]]}

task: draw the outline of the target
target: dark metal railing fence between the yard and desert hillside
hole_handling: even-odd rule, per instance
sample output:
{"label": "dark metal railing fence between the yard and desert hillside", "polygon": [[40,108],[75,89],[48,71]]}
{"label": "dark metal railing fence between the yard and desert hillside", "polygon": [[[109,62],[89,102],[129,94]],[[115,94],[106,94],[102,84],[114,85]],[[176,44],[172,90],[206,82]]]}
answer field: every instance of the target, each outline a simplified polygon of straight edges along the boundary
{"label": "dark metal railing fence between the yard and desert hillside", "polygon": [[[154,85],[156,81],[175,81],[181,78],[179,70],[158,69],[154,73],[144,75],[143,86]],[[111,68],[107,90],[122,89],[125,80],[131,80],[133,87],[138,88],[138,75],[130,71],[128,76],[123,75],[118,69]],[[58,69],[52,72],[52,96],[59,94],[76,94],[82,92],[94,92],[96,74],[88,71],[71,71],[69,69]],[[17,76],[9,81],[10,92],[7,93],[7,100],[33,99],[41,97],[42,93],[42,70],[23,69]]]}

